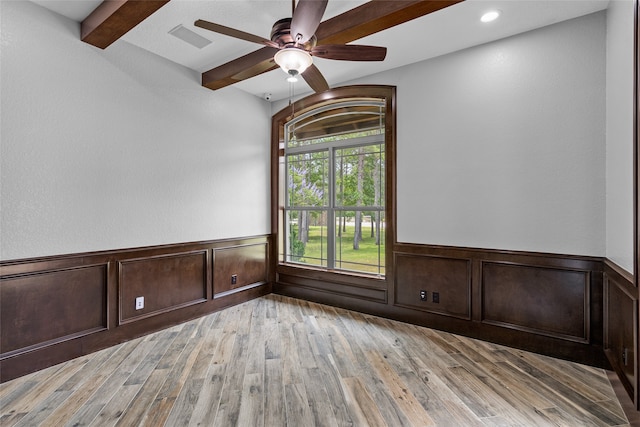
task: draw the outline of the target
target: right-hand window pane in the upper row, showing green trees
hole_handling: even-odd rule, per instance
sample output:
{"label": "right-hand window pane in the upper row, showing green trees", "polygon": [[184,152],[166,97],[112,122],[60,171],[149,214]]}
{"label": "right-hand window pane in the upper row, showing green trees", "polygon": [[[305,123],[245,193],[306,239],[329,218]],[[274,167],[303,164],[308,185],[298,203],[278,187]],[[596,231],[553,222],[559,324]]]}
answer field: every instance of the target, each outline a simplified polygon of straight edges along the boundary
{"label": "right-hand window pane in the upper row, showing green trees", "polygon": [[344,148],[335,153],[336,206],[382,206],[384,145]]}

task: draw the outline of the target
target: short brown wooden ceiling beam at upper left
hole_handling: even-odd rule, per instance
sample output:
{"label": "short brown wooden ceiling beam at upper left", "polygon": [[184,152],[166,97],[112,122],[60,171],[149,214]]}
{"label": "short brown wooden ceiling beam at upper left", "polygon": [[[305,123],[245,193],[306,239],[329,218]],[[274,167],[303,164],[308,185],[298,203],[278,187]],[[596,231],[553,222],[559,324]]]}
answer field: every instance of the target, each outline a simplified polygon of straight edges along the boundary
{"label": "short brown wooden ceiling beam at upper left", "polygon": [[82,21],[80,39],[105,49],[169,0],[104,0]]}

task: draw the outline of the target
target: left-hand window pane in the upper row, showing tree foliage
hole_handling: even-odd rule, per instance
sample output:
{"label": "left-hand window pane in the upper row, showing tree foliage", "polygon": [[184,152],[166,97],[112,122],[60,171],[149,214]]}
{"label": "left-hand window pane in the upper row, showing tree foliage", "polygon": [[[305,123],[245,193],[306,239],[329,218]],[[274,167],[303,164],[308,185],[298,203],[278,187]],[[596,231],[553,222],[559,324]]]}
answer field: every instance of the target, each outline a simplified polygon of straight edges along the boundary
{"label": "left-hand window pane in the upper row, showing tree foliage", "polygon": [[287,206],[327,206],[328,174],[327,151],[288,155]]}

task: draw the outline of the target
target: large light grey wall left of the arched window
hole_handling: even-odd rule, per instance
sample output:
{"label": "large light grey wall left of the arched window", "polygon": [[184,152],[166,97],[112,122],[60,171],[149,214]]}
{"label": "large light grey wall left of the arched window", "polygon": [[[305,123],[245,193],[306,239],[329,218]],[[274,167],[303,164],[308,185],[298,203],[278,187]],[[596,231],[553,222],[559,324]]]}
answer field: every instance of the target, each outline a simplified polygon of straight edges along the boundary
{"label": "large light grey wall left of the arched window", "polygon": [[0,7],[0,259],[270,231],[266,101]]}

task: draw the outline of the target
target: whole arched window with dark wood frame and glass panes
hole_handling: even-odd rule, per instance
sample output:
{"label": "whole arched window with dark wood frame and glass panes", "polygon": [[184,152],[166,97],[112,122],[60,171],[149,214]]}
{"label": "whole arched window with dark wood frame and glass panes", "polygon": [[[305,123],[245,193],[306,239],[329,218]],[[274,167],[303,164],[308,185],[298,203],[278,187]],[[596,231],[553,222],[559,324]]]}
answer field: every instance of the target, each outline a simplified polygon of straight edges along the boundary
{"label": "whole arched window with dark wood frame and glass panes", "polygon": [[274,116],[279,265],[375,279],[388,274],[394,95],[388,86],[338,88]]}

